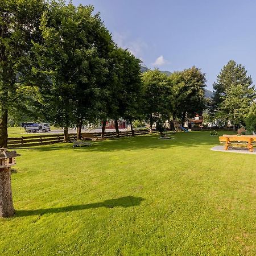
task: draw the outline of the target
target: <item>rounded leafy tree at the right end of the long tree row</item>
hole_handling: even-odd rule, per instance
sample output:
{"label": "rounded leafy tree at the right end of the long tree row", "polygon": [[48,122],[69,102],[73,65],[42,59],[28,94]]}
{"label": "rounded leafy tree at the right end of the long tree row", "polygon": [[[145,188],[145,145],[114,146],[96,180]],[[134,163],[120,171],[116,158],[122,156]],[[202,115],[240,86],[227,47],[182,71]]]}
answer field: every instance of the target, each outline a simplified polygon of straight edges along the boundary
{"label": "rounded leafy tree at the right end of the long tree row", "polygon": [[172,73],[170,79],[174,84],[175,92],[174,118],[180,118],[184,125],[186,117],[194,117],[205,108],[205,74],[193,66],[184,71]]}

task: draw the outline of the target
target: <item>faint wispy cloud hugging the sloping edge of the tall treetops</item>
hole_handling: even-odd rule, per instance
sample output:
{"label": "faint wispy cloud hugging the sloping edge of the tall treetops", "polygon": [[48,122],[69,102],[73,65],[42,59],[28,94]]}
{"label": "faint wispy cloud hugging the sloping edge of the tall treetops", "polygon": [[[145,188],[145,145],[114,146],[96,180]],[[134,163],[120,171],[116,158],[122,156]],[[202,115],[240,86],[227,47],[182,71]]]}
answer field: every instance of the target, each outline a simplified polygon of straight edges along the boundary
{"label": "faint wispy cloud hugging the sloping edge of the tall treetops", "polygon": [[147,48],[147,44],[141,39],[137,38],[135,40],[129,39],[129,35],[120,34],[118,32],[113,32],[112,38],[117,45],[123,49],[128,49],[131,54],[139,59],[143,60],[144,49]]}

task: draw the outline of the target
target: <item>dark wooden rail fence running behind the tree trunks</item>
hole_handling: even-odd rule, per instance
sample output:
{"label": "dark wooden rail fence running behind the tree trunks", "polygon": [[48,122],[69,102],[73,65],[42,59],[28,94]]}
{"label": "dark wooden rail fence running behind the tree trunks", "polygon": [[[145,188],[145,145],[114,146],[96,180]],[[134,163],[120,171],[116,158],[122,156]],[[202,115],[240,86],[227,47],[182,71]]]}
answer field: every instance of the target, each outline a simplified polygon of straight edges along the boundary
{"label": "dark wooden rail fence running behind the tree trunks", "polygon": [[[157,131],[154,130],[153,133]],[[134,130],[135,135],[143,135],[150,133],[150,130]],[[92,134],[92,133],[90,133]],[[131,131],[120,131],[120,137],[128,137],[131,136]],[[70,133],[69,137],[71,139],[76,139],[76,133]],[[93,133],[93,137],[101,137],[101,133]],[[115,131],[105,133],[105,138],[115,138],[116,134]],[[64,134],[43,134],[43,135],[32,135],[32,136],[21,136],[15,138],[8,138],[7,147],[14,148],[14,147],[31,147],[31,146],[40,146],[40,145],[47,145],[53,143],[62,142],[64,139]]]}

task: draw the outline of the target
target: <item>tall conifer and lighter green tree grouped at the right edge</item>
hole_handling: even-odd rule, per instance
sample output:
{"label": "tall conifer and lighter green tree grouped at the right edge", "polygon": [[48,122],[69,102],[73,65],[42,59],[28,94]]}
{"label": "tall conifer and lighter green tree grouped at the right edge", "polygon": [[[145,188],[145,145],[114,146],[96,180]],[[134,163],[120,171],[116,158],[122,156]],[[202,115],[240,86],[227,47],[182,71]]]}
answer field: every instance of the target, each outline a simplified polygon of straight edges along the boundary
{"label": "tall conifer and lighter green tree grouped at the right edge", "polygon": [[214,97],[209,107],[212,119],[225,126],[232,122],[234,131],[238,125],[245,124],[247,130],[256,130],[250,122],[255,112],[256,90],[245,67],[230,60],[217,76],[213,89]]}

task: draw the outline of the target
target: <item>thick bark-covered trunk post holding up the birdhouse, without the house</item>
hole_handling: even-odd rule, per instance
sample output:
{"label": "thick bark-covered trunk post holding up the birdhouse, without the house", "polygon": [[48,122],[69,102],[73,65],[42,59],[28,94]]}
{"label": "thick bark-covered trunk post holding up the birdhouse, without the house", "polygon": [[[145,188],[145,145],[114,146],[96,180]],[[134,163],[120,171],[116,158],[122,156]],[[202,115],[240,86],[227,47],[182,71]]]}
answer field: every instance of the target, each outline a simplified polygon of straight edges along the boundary
{"label": "thick bark-covered trunk post holding up the birdhouse, without the house", "polygon": [[14,213],[11,168],[2,168],[0,169],[0,217],[11,217]]}

